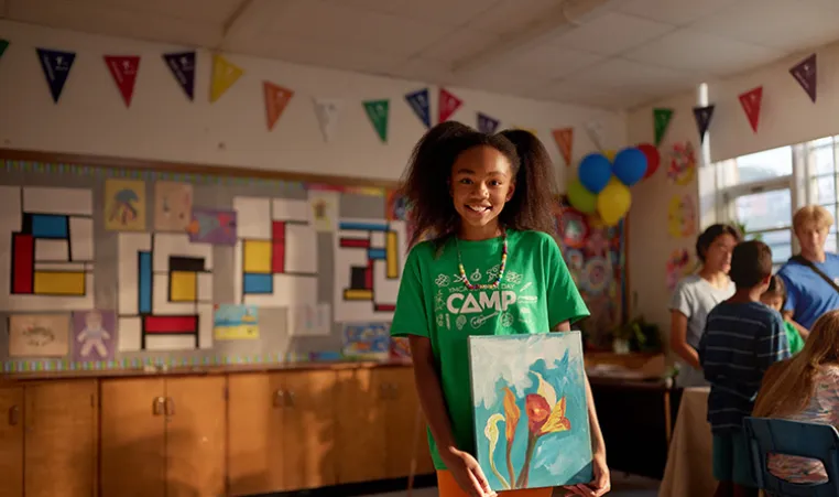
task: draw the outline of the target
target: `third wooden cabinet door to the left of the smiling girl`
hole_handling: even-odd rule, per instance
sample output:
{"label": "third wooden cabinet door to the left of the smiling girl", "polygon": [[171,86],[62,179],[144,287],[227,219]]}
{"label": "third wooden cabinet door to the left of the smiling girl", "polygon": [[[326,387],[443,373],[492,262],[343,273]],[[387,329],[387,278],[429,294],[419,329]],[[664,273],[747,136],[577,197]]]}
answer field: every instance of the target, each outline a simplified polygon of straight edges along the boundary
{"label": "third wooden cabinet door to the left of the smiling girl", "polygon": [[283,489],[296,490],[336,484],[335,371],[282,372],[285,447]]}

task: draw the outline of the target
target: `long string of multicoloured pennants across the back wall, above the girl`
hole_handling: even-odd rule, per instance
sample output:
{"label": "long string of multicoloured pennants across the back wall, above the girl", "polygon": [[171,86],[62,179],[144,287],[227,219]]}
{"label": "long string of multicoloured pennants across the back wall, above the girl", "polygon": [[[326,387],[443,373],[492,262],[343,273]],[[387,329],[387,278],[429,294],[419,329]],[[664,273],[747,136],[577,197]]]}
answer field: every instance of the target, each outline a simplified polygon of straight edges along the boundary
{"label": "long string of multicoloured pennants across the back wall, above the girl", "polygon": [[[11,46],[11,42],[0,39],[0,58]],[[77,54],[75,52],[35,48],[41,68],[44,73],[50,95],[57,105],[65,85],[69,78]],[[103,55],[103,62],[110,73],[117,90],[126,104],[131,107],[140,73],[140,55],[110,54]],[[195,78],[197,68],[197,52],[171,52],[162,54],[162,61],[172,73],[173,78],[184,91],[189,101],[195,101]],[[210,67],[210,87],[209,101],[217,102],[227,91],[229,91],[244,76],[244,69],[230,62],[219,53],[211,56]],[[264,94],[265,120],[269,131],[273,130],[276,122],[282,117],[284,110],[293,99],[295,91],[279,85],[274,82],[263,80],[262,88]],[[422,88],[407,93],[404,96],[405,102],[413,110],[414,115],[427,128],[432,127],[432,99],[429,88]],[[437,95],[437,122],[444,122],[451,119],[464,106],[464,100],[446,88],[439,88]],[[344,102],[335,98],[313,99],[315,115],[317,117],[320,132],[324,140],[333,140],[338,125],[340,114],[344,109]],[[372,99],[362,101],[364,112],[370,120],[373,131],[382,143],[388,142],[389,121],[390,121],[390,99]],[[476,128],[486,133],[494,133],[499,130],[500,119],[484,112],[476,112]],[[535,134],[535,130],[525,129]],[[571,147],[574,142],[574,130],[564,128],[552,131],[559,152],[566,165],[570,166],[573,161]]]}

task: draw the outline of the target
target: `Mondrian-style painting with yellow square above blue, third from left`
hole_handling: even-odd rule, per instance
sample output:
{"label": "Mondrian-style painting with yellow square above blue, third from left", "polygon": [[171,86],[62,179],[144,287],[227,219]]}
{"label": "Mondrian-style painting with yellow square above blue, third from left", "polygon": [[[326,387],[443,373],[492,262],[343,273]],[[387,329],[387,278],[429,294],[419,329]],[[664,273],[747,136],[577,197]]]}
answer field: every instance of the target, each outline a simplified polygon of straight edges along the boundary
{"label": "Mondrian-style painting with yellow square above blue, third from left", "polygon": [[317,302],[317,234],[307,201],[235,197],[238,304],[290,307]]}

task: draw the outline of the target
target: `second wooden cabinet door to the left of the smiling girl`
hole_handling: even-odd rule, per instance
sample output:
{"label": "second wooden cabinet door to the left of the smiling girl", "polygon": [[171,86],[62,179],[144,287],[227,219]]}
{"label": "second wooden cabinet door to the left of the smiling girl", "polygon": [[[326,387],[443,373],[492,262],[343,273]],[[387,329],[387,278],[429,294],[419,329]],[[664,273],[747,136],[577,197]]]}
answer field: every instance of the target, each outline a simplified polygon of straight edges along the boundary
{"label": "second wooden cabinet door to the left of the smiling girl", "polygon": [[377,369],[338,371],[336,429],[338,483],[383,479],[384,399]]}

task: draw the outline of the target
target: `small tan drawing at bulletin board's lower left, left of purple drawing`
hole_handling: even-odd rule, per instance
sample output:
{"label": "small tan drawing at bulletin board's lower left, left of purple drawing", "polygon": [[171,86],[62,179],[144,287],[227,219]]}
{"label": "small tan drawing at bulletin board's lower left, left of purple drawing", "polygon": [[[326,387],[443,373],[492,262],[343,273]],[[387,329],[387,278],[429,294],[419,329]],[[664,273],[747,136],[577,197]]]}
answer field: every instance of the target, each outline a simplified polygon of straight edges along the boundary
{"label": "small tan drawing at bulletin board's lower left, left of purple drawing", "polygon": [[9,317],[9,355],[63,357],[69,352],[69,314],[13,314]]}

